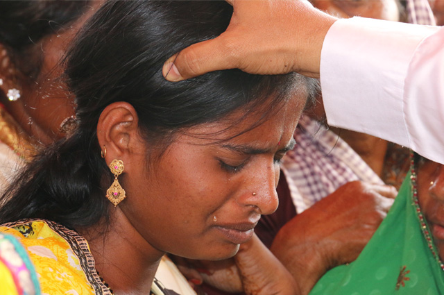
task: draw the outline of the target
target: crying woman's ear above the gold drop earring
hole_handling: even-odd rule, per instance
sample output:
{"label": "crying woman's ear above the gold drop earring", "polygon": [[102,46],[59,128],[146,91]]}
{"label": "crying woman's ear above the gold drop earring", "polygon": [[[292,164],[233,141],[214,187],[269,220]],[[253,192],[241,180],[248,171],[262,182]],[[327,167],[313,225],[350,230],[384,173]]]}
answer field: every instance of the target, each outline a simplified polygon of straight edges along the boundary
{"label": "crying woman's ear above the gold drop earring", "polygon": [[133,154],[140,153],[143,141],[138,124],[139,117],[130,103],[111,103],[103,110],[97,124],[97,139],[107,164],[114,159],[129,163]]}

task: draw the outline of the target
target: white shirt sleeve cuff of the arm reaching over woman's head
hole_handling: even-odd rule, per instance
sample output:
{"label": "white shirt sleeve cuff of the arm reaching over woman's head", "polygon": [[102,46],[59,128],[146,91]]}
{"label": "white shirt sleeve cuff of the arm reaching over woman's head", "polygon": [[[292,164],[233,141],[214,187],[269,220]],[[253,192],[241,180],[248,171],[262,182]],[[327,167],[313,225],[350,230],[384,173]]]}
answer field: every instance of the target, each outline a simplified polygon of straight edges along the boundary
{"label": "white shirt sleeve cuff of the arm reaching over woman's head", "polygon": [[340,19],[324,40],[321,87],[328,124],[444,164],[444,27]]}

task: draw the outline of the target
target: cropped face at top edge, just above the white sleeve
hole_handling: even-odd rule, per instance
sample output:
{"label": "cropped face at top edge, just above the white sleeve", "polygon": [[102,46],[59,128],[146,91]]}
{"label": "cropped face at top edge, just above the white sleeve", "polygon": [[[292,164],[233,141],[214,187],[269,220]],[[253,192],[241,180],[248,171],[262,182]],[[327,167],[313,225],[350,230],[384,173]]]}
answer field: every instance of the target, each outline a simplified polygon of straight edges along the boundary
{"label": "cropped face at top edge, just above the white sleeve", "polygon": [[316,8],[342,18],[360,16],[394,22],[400,19],[395,0],[311,0],[311,3]]}

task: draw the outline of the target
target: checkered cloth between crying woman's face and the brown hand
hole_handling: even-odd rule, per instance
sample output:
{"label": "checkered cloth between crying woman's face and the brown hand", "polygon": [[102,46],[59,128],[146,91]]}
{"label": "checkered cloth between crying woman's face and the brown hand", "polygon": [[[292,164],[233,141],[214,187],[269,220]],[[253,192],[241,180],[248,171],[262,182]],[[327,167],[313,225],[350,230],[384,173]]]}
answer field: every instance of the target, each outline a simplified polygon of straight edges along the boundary
{"label": "checkered cloth between crying woman's face and the brown hand", "polygon": [[298,214],[350,181],[384,184],[341,137],[305,115],[294,139],[282,171]]}

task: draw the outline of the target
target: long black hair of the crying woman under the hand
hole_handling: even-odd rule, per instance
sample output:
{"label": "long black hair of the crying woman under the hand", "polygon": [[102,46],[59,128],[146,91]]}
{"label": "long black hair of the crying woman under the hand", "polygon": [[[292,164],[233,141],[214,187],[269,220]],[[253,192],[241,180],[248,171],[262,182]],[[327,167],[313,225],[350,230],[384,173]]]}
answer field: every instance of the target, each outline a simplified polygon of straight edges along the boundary
{"label": "long black hair of the crying woman under the hand", "polygon": [[105,3],[67,56],[78,128],[37,155],[8,189],[0,222],[35,217],[76,228],[108,217],[102,187],[110,185],[112,175],[100,156],[96,126],[110,103],[130,103],[147,142],[169,144],[179,130],[220,121],[240,108],[247,116],[262,106],[266,118],[293,90],[305,92],[308,80],[297,74],[259,76],[232,69],[180,83],[163,78],[169,56],[222,33],[231,14],[225,1]]}

